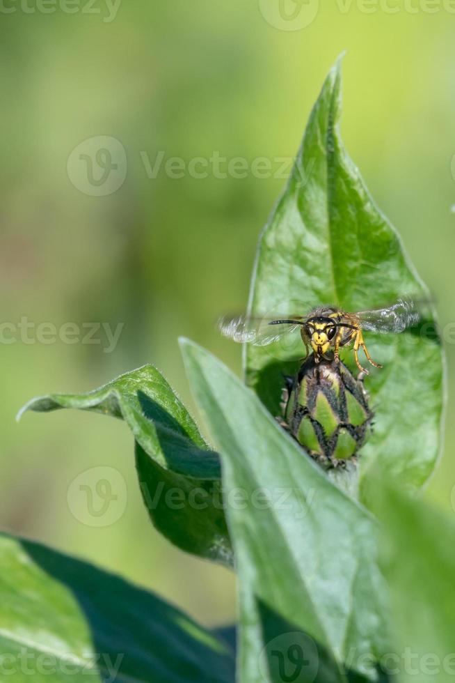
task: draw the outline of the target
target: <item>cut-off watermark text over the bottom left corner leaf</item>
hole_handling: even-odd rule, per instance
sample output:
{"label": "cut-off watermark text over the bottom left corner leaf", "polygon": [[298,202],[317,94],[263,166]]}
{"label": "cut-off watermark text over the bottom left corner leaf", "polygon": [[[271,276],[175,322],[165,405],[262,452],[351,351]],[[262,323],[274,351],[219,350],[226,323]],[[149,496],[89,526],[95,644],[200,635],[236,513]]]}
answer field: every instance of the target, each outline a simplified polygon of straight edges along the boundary
{"label": "cut-off watermark text over the bottom left corner leaf", "polygon": [[0,653],[0,676],[2,681],[13,680],[15,677],[56,676],[58,679],[66,676],[91,676],[102,672],[105,683],[117,680],[124,654],[113,655],[94,652],[83,652],[81,655],[71,652],[36,652],[27,647],[21,647],[19,652]]}

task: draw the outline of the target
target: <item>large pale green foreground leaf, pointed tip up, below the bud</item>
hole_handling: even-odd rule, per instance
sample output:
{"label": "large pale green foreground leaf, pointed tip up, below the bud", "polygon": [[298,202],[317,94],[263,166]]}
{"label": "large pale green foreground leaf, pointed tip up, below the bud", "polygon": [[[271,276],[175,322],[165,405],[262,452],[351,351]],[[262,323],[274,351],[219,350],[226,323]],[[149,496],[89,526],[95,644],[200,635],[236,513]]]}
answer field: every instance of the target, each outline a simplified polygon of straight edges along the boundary
{"label": "large pale green foreground leaf, pointed tip up, below the bud", "polygon": [[241,584],[241,680],[280,680],[273,653],[285,657],[293,647],[311,653],[310,668],[317,664],[301,680],[380,680],[362,663],[363,655],[378,661],[386,651],[372,516],[329,481],[220,361],[185,340],[182,352],[223,457]]}

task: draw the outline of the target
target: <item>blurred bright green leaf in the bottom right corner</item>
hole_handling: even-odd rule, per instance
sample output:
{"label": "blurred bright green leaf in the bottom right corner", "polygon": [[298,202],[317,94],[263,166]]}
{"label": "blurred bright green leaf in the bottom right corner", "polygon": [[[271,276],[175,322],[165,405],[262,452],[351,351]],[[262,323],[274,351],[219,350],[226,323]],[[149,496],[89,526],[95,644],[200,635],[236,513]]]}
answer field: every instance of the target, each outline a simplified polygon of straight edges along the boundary
{"label": "blurred bright green leaf in the bottom right corner", "polygon": [[455,677],[455,525],[420,500],[390,491],[382,501],[383,569],[390,584],[400,683]]}

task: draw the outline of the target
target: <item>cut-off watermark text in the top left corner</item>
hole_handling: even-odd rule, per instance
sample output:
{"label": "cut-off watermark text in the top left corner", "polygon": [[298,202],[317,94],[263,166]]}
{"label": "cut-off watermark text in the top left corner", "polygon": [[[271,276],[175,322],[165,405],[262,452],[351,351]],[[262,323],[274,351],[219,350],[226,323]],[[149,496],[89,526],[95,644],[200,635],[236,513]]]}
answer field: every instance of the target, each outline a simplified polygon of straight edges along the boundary
{"label": "cut-off watermark text in the top left corner", "polygon": [[83,14],[102,17],[110,24],[122,0],[0,0],[0,14]]}

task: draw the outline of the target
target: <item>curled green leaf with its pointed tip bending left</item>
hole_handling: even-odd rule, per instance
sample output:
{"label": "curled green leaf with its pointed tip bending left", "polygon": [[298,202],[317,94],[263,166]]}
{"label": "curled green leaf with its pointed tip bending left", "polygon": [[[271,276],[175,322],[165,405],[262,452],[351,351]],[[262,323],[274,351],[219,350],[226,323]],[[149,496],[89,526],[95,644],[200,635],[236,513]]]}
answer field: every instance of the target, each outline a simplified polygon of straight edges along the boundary
{"label": "curled green leaf with its pointed tip bending left", "polygon": [[136,440],[136,467],[157,529],[184,551],[232,564],[218,454],[208,450],[191,415],[152,365],[85,394],[49,394],[26,410],[79,408],[120,417]]}

